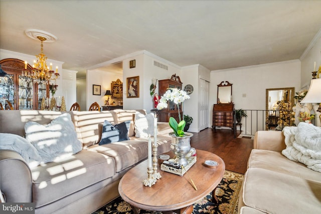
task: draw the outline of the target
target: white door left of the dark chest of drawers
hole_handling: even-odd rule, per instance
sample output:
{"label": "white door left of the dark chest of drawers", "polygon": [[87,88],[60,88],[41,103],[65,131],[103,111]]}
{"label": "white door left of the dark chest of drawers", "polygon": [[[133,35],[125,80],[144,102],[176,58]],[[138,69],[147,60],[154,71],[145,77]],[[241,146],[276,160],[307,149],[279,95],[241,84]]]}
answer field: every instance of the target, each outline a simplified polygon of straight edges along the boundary
{"label": "white door left of the dark chest of drawers", "polygon": [[209,127],[209,87],[210,83],[199,79],[199,128],[200,131]]}

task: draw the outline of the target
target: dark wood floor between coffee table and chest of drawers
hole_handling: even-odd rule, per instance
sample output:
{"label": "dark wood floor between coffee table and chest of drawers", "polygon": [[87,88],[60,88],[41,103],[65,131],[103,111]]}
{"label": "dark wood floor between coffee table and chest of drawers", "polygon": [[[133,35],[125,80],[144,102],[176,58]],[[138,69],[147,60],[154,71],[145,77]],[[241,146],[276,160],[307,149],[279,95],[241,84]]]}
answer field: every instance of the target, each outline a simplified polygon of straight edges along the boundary
{"label": "dark wood floor between coffee table and chest of drawers", "polygon": [[207,128],[193,134],[192,147],[217,154],[224,160],[227,170],[245,173],[247,160],[253,149],[252,139],[234,138],[233,132],[227,129]]}

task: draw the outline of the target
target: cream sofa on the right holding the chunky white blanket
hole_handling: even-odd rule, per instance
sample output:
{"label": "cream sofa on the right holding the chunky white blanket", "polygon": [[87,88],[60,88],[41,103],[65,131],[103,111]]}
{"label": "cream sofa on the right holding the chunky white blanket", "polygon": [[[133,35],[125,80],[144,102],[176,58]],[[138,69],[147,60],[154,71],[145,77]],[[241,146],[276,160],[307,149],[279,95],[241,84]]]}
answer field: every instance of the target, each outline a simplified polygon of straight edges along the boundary
{"label": "cream sofa on the right holding the chunky white blanket", "polygon": [[256,132],[239,213],[321,213],[321,173],[287,159],[285,147],[283,132]]}

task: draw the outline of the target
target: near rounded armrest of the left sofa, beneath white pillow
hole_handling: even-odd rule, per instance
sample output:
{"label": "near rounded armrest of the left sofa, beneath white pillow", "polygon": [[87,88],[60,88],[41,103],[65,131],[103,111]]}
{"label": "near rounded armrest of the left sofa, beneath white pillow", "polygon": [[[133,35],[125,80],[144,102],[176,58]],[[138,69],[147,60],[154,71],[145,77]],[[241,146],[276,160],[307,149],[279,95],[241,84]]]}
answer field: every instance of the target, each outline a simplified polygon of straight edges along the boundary
{"label": "near rounded armrest of the left sofa, beneath white pillow", "polygon": [[6,202],[32,202],[32,183],[24,158],[12,150],[0,150],[0,187]]}

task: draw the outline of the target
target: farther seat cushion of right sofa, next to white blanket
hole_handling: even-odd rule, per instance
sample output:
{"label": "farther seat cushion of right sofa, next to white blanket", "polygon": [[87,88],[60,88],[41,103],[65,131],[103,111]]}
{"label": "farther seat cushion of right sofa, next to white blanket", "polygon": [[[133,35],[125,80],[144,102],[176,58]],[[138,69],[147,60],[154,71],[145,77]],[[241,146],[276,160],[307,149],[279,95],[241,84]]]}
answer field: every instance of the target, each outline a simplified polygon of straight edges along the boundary
{"label": "farther seat cushion of right sofa, next to white blanket", "polygon": [[289,174],[305,179],[321,181],[321,173],[307,168],[304,164],[287,159],[280,152],[252,149],[249,168],[263,168],[275,172]]}

